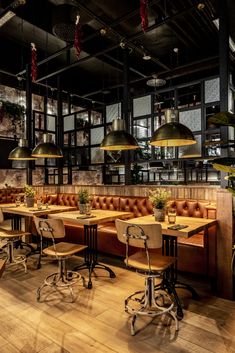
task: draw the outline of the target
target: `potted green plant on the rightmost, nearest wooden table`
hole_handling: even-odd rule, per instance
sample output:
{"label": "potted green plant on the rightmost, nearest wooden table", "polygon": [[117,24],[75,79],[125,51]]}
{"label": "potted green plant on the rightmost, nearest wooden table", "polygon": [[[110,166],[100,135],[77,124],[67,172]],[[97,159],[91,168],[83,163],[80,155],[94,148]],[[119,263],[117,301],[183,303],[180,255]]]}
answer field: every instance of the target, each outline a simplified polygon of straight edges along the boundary
{"label": "potted green plant on the rightmost, nearest wooden table", "polygon": [[155,220],[164,222],[166,215],[166,207],[171,193],[165,189],[149,190],[149,200],[153,204]]}

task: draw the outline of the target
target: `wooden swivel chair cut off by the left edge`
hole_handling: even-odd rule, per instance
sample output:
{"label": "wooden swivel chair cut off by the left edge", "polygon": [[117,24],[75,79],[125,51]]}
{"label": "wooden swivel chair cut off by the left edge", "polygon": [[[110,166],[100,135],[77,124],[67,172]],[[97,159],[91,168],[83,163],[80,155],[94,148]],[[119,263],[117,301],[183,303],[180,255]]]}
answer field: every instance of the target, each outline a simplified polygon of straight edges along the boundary
{"label": "wooden swivel chair cut off by the left edge", "polygon": [[[0,224],[4,222],[4,216],[2,209],[0,208]],[[1,257],[5,258],[6,266],[8,265],[22,265],[25,273],[27,273],[27,258],[25,255],[15,255],[15,244],[22,240],[23,236],[27,236],[29,233],[21,230],[7,230],[0,228],[0,241],[5,243],[2,247]]]}

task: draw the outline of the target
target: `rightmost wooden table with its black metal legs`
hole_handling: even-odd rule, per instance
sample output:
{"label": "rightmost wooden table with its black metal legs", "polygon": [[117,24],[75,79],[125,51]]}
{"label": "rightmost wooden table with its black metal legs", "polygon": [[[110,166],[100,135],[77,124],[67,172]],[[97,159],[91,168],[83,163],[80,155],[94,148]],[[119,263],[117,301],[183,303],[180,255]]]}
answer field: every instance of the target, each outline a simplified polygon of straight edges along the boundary
{"label": "rightmost wooden table with its black metal legs", "polygon": [[[176,223],[175,224],[169,224],[167,222],[167,217],[164,222],[157,222],[155,221],[154,216],[149,215],[149,216],[143,216],[143,217],[138,217],[138,218],[132,218],[128,220],[127,222],[131,224],[161,224],[162,226],[162,234],[163,234],[163,255],[167,256],[174,256],[177,258],[177,247],[178,247],[178,242],[177,238],[178,237],[183,237],[183,238],[189,238],[194,234],[197,234],[200,231],[204,231],[204,237],[205,241],[207,241],[208,238],[208,228],[217,225],[218,221],[216,219],[206,219],[206,218],[194,218],[194,217],[181,217],[177,216],[176,217]],[[184,229],[181,230],[172,230],[169,229],[169,227],[174,226],[174,225],[185,225],[187,226]],[[208,249],[208,246],[207,246]],[[208,255],[208,254],[207,254]],[[199,296],[196,293],[196,291],[189,286],[188,284],[179,282],[177,279],[177,261],[175,262],[175,265],[171,267],[170,271],[170,281],[173,283],[174,288],[183,288],[187,289],[192,293],[192,296],[194,299],[197,299]],[[163,284],[164,286],[164,279],[163,279]],[[181,303],[179,301],[177,293],[173,293],[175,297],[175,301],[177,304],[177,315],[179,318],[183,318],[183,310],[181,307]]]}

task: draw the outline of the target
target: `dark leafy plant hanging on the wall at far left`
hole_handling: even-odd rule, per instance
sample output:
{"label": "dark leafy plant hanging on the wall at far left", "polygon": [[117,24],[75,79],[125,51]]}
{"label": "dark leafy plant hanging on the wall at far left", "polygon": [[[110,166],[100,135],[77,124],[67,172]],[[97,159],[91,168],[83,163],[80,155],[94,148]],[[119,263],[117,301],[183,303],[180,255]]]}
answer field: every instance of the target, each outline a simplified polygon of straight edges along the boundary
{"label": "dark leafy plant hanging on the wall at far left", "polygon": [[15,135],[17,130],[22,130],[23,128],[24,113],[24,106],[10,101],[0,100],[0,122],[2,122],[4,117],[10,119],[12,130]]}

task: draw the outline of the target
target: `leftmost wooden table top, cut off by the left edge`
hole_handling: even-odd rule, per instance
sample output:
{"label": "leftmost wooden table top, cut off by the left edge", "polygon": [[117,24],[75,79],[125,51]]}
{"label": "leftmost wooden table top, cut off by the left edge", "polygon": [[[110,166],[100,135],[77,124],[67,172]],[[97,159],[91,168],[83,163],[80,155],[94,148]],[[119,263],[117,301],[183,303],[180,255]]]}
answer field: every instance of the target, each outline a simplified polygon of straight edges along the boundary
{"label": "leftmost wooden table top, cut off by the left edge", "polygon": [[46,205],[42,205],[42,209],[39,210],[36,204],[34,205],[34,207],[25,207],[23,205],[16,206],[14,203],[0,204],[0,207],[3,213],[11,213],[25,217],[43,216],[50,213],[77,210],[77,207],[60,205],[49,205],[48,208],[46,208]]}

